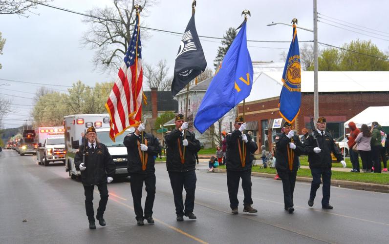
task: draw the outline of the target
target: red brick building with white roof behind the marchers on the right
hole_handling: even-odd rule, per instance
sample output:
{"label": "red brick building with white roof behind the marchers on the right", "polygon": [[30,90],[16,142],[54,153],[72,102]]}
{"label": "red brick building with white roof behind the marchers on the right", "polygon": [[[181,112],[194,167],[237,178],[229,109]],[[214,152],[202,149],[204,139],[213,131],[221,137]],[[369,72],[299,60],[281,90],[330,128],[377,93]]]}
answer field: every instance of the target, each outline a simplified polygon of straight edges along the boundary
{"label": "red brick building with white roof behind the marchers on the right", "polygon": [[[279,114],[282,72],[262,72],[253,83],[245,103],[245,119],[258,124],[253,129],[259,147],[271,148],[275,135],[281,132]],[[301,134],[313,117],[313,72],[302,72],[301,110],[294,124]],[[319,72],[319,116],[327,119],[327,130],[337,138],[343,135],[344,122],[369,106],[389,105],[388,71],[321,71]],[[243,104],[238,106],[243,114]],[[383,111],[388,112],[388,111]]]}

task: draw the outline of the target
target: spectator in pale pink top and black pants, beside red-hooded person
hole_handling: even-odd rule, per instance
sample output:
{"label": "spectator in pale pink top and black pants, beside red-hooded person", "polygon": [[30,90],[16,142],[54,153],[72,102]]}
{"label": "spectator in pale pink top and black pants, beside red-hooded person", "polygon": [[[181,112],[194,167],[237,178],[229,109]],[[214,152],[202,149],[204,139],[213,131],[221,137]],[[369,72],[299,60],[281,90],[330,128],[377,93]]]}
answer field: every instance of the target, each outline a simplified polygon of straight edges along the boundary
{"label": "spectator in pale pink top and black pants, beside red-hooded person", "polygon": [[[357,149],[362,160],[362,168],[364,172],[371,172],[371,132],[366,124],[362,124],[361,133],[355,138],[355,143],[358,143]],[[352,151],[352,150],[350,150]]]}

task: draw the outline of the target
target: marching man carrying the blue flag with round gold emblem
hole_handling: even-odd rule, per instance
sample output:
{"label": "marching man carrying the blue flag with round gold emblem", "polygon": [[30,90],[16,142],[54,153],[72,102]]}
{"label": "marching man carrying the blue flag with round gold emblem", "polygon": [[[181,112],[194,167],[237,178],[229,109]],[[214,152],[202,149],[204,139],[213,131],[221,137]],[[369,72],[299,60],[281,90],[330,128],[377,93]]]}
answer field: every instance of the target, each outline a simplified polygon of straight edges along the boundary
{"label": "marching man carrying the blue flag with round gold emblem", "polygon": [[304,152],[303,143],[294,135],[289,122],[283,124],[283,133],[276,137],[277,173],[282,180],[284,208],[293,213],[293,191],[296,184],[299,156]]}

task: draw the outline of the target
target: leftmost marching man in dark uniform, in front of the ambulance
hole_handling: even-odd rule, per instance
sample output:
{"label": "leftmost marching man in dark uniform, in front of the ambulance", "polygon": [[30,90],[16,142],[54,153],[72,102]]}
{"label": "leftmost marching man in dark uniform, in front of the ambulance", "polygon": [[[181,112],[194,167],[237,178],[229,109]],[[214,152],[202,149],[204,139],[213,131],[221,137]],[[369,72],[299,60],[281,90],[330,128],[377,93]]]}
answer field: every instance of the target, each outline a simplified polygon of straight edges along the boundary
{"label": "leftmost marching man in dark uniform, in front of the ambulance", "polygon": [[[111,183],[115,174],[115,163],[103,143],[97,141],[96,130],[93,126],[86,130],[86,145],[81,145],[74,157],[76,169],[81,171],[81,181],[84,185],[86,216],[88,216],[89,229],[95,229],[93,211],[93,189],[97,185],[100,192],[100,202],[97,208],[96,219],[101,226],[106,225],[103,218],[108,202],[107,183]],[[85,162],[83,151],[85,149]]]}

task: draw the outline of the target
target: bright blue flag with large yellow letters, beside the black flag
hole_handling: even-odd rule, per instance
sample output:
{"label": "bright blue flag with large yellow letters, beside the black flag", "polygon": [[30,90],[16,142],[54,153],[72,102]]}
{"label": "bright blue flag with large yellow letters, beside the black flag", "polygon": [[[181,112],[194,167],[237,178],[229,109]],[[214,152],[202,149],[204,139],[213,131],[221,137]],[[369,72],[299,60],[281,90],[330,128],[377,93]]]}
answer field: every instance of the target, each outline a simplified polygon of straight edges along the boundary
{"label": "bright blue flag with large yellow letters, beside the black flag", "polygon": [[246,40],[246,21],[228,49],[219,70],[212,79],[194,119],[202,134],[243,99],[250,95],[253,82]]}

